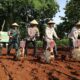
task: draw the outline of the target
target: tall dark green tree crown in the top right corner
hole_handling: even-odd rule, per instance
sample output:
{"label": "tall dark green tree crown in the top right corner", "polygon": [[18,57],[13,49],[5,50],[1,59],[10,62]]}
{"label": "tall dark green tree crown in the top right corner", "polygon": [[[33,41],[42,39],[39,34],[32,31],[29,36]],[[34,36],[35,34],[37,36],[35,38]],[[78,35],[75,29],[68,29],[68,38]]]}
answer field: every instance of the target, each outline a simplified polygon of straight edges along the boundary
{"label": "tall dark green tree crown in the top right corner", "polygon": [[69,22],[75,25],[75,23],[80,20],[80,0],[70,0],[65,10]]}

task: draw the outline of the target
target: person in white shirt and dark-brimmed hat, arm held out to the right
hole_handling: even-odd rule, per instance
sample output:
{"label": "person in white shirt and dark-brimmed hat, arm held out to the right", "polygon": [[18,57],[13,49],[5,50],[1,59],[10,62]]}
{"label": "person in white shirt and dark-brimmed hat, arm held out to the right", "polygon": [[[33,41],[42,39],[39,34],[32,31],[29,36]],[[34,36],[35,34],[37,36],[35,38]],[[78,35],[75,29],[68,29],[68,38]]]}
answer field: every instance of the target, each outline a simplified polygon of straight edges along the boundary
{"label": "person in white shirt and dark-brimmed hat, arm held out to the right", "polygon": [[[57,36],[57,34],[54,30],[54,22],[52,20],[50,20],[48,22],[48,27],[46,27],[46,30],[45,30],[45,41],[47,42],[46,49],[49,49],[51,51],[50,52],[51,55],[53,54],[54,57],[56,57],[56,55],[57,55],[57,46],[56,46],[56,43],[53,40],[53,36],[55,38],[59,39],[59,37]],[[53,46],[53,44],[54,44],[54,46]],[[53,52],[53,50],[54,50],[54,52]]]}

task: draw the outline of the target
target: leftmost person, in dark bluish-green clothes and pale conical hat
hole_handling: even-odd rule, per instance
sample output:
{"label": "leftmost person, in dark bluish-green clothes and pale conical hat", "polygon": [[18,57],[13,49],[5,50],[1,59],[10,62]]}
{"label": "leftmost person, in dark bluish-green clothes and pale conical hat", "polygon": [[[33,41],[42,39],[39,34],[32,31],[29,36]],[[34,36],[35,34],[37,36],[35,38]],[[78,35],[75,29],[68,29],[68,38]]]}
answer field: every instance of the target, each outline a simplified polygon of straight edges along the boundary
{"label": "leftmost person, in dark bluish-green clothes and pale conical hat", "polygon": [[[19,25],[13,23],[11,29],[8,31],[9,34],[9,45],[8,45],[8,54],[10,54],[11,49],[16,49],[16,53],[19,48],[19,31],[17,29]],[[14,55],[16,56],[16,54]]]}

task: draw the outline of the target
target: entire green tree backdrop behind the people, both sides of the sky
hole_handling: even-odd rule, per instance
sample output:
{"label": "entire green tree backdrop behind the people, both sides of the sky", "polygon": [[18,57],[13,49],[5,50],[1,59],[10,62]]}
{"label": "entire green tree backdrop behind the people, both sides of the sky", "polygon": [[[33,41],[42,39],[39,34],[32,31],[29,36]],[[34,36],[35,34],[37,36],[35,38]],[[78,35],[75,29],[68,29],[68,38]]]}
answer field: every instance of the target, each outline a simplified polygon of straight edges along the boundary
{"label": "entire green tree backdrop behind the people, both sides of the sky", "polygon": [[[59,11],[56,0],[0,0],[0,30],[5,20],[4,31],[7,31],[13,22],[20,27],[21,38],[26,36],[26,28],[29,22],[36,19],[39,22],[39,30],[42,38],[45,30],[45,23]],[[65,7],[65,17],[61,17],[62,23],[57,25],[57,33],[64,38],[80,20],[80,0],[69,0]],[[65,42],[66,41],[66,42]],[[68,42],[67,40],[60,41]],[[60,42],[57,41],[57,44]]]}

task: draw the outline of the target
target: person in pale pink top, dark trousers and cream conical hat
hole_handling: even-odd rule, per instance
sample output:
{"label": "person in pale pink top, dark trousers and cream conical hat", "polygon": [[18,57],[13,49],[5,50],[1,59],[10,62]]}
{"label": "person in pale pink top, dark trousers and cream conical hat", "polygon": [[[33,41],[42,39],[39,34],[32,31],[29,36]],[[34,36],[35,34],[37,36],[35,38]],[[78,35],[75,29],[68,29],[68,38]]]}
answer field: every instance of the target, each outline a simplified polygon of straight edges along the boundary
{"label": "person in pale pink top, dark trousers and cream conical hat", "polygon": [[30,22],[30,26],[27,28],[27,39],[25,45],[25,53],[27,54],[28,44],[32,42],[34,47],[33,56],[36,56],[36,39],[39,37],[39,30],[37,28],[38,22],[36,20],[32,20]]}

